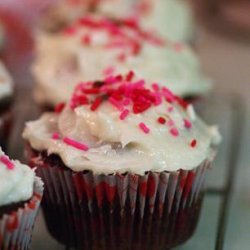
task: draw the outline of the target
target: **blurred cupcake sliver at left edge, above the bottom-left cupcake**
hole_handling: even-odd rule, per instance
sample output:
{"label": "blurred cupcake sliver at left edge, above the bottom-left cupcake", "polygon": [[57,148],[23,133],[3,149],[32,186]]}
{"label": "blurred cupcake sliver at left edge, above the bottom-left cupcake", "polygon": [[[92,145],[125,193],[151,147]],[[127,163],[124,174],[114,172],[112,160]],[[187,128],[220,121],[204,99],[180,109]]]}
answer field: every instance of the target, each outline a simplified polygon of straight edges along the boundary
{"label": "blurred cupcake sliver at left edge, above the bottom-left cupcake", "polygon": [[12,123],[13,81],[0,61],[0,146],[6,148]]}

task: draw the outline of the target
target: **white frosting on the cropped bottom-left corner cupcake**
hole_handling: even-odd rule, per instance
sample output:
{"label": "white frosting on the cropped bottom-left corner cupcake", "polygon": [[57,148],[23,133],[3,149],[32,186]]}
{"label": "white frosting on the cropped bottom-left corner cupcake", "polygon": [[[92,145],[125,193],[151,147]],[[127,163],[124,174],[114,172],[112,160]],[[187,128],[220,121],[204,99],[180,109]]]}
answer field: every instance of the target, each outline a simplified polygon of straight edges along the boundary
{"label": "white frosting on the cropped bottom-left corner cupcake", "polygon": [[[0,149],[2,156],[5,154]],[[13,169],[0,161],[0,206],[29,200],[33,194],[34,171],[19,161],[12,160],[11,163]]]}

